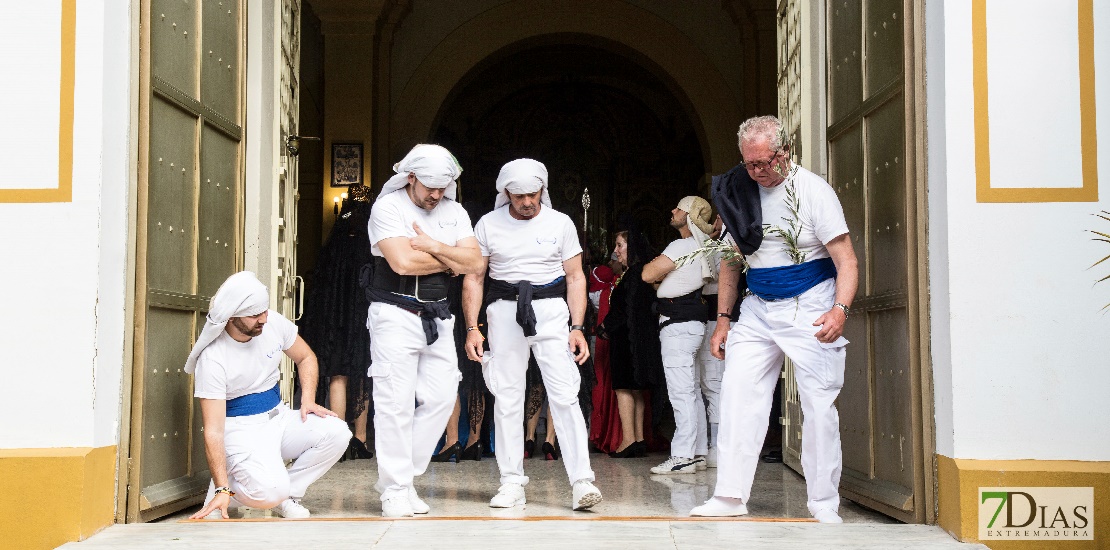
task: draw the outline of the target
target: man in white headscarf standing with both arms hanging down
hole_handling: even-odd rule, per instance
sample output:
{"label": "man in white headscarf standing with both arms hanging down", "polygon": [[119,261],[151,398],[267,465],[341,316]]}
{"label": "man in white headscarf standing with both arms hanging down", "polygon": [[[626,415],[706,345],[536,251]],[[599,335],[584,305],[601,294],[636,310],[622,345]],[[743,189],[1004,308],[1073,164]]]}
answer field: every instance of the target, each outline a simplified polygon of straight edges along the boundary
{"label": "man in white headscarf standing with both arms hanging down", "polygon": [[[528,352],[547,388],[548,410],[563,441],[563,463],[572,484],[571,508],[602,501],[586,448],[586,421],[578,406],[577,364],[589,357],[584,334],[586,276],[574,222],[552,208],[547,168],[532,159],[508,162],[497,176],[494,210],[474,228],[482,268],[463,281],[466,354],[482,361],[495,398],[494,432],[501,489],[492,508],[526,502],[524,486],[524,393]],[[483,293],[488,269],[490,288]],[[490,350],[477,326],[486,304]],[[577,364],[575,364],[577,362]]]}

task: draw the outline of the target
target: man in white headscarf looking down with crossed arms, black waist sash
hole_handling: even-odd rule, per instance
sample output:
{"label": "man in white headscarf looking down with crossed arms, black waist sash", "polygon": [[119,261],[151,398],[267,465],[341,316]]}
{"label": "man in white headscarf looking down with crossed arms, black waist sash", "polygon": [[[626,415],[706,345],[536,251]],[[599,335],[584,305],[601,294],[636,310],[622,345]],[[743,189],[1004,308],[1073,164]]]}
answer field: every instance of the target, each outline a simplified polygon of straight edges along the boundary
{"label": "man in white headscarf looking down with crossed arms, black waist sash", "polygon": [[[420,144],[393,167],[370,213],[370,299],[374,448],[382,516],[427,513],[413,478],[427,470],[455,406],[458,358],[447,308],[452,274],[482,264],[471,218],[455,201],[458,161]],[[415,407],[413,403],[416,403]]]}

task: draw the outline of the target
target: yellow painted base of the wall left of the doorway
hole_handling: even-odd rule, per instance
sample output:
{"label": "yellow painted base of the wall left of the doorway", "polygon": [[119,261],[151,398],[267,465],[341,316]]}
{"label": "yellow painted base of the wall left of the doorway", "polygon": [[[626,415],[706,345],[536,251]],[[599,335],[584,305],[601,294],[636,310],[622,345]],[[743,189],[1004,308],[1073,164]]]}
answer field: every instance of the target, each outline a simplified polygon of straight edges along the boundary
{"label": "yellow painted base of the wall left of the doorway", "polygon": [[115,446],[0,450],[0,548],[56,548],[112,524]]}

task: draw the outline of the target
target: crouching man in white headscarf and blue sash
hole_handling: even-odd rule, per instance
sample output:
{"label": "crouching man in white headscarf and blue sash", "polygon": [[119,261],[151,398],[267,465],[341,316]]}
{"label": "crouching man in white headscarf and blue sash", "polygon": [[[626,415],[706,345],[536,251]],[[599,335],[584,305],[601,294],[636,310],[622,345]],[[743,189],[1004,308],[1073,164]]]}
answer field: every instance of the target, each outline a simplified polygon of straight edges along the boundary
{"label": "crouching man in white headscarf and blue sash", "polygon": [[[192,519],[228,519],[229,507],[273,508],[307,518],[300,500],[346,450],[351,430],[316,404],[316,356],[296,326],[268,309],[270,293],[254,273],[228,278],[209,309],[185,372],[200,398],[204,452],[212,483]],[[278,367],[296,363],[301,409],[281,402]],[[285,461],[293,460],[287,469]]]}

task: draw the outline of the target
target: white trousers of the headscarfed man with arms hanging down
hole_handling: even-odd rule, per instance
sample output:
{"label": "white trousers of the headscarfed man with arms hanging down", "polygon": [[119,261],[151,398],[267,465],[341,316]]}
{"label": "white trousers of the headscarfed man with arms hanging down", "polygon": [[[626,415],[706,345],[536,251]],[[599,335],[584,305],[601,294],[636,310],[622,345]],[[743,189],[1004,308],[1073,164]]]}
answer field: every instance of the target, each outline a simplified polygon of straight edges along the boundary
{"label": "white trousers of the headscarfed man with arms hanging down", "polygon": [[563,450],[563,466],[571,483],[594,480],[586,447],[586,420],[578,404],[582,377],[567,344],[571,312],[562,298],[533,300],[536,336],[525,337],[516,323],[516,302],[496,300],[486,308],[490,323],[488,359],[482,374],[493,393],[494,443],[502,483],[528,483],[524,474],[524,393],[528,350],[536,357],[547,389],[555,433]]}

